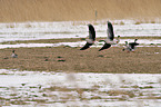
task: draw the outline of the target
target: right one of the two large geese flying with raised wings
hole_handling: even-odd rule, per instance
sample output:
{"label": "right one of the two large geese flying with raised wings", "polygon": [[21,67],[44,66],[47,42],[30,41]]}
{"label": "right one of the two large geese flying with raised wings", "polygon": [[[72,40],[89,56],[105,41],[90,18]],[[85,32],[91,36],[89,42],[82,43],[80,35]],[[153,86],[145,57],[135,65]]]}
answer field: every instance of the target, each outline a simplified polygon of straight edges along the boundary
{"label": "right one of the two large geese flying with raised wings", "polygon": [[108,32],[108,38],[105,40],[103,40],[105,43],[103,45],[103,47],[99,51],[108,49],[111,47],[111,45],[117,45],[120,41],[120,39],[119,39],[120,36],[118,36],[118,38],[114,39],[113,26],[110,21],[108,21],[107,32]]}

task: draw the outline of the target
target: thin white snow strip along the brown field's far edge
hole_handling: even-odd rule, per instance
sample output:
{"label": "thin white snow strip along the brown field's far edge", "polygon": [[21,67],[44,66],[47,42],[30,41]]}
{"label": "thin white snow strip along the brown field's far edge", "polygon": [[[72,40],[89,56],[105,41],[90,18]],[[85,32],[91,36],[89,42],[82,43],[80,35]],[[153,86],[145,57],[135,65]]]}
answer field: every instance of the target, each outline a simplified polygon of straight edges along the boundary
{"label": "thin white snow strip along the brown field's far edge", "polygon": [[[120,45],[124,45],[124,41],[133,42],[134,39],[121,39]],[[85,45],[87,41],[77,41],[77,42],[59,42],[59,43],[17,43],[17,45],[0,45],[0,49],[3,48],[24,48],[24,47],[59,47],[59,46],[70,46],[70,47],[82,47]],[[140,45],[138,47],[161,47],[161,39],[139,39],[137,42]],[[102,47],[104,42],[98,42],[91,47]],[[119,45],[114,45],[118,47]]]}

